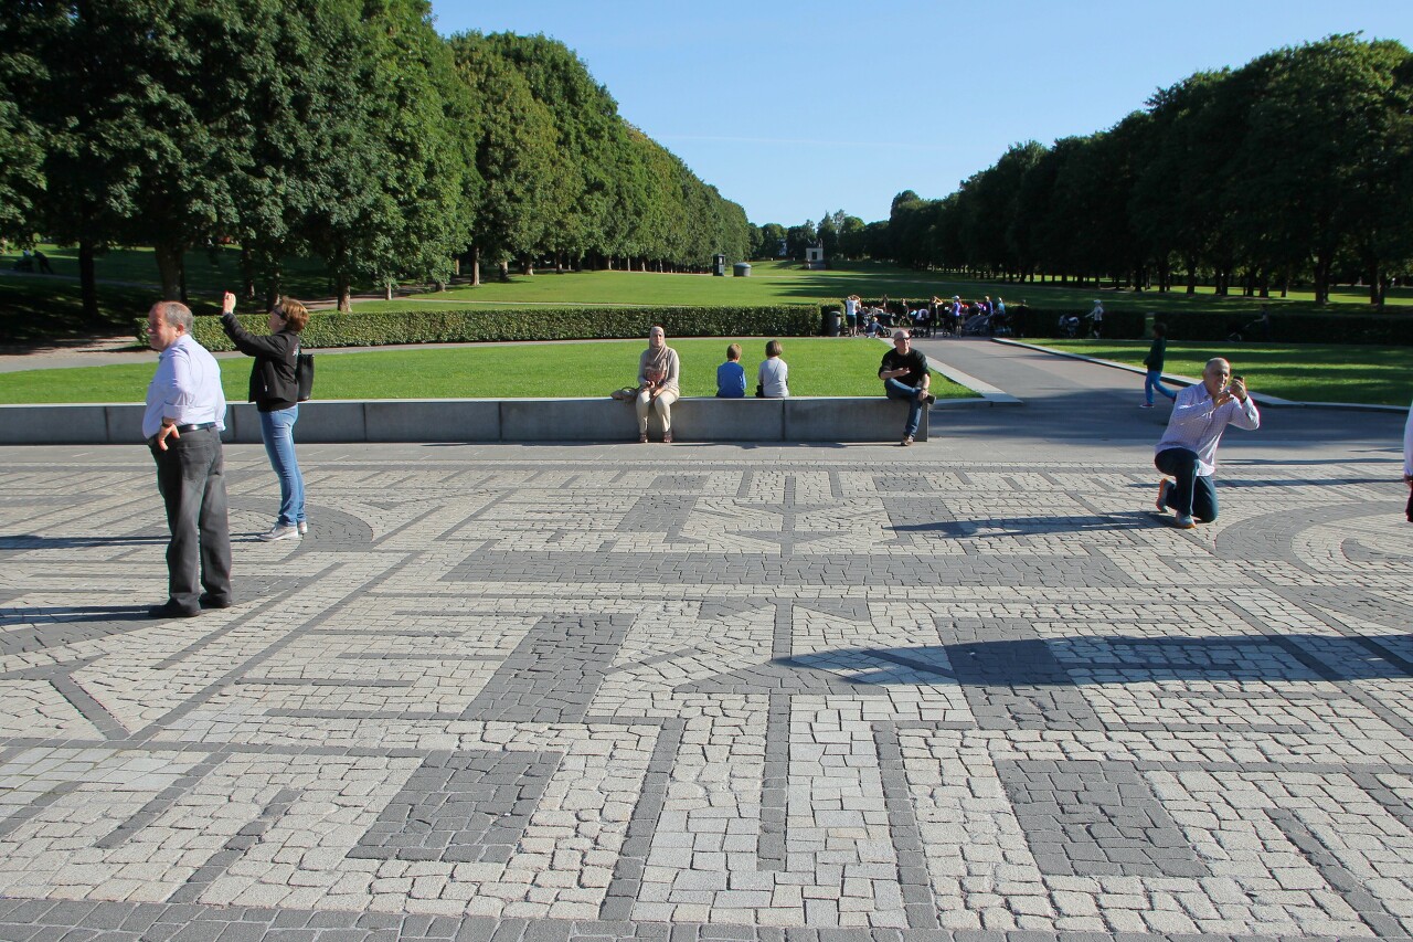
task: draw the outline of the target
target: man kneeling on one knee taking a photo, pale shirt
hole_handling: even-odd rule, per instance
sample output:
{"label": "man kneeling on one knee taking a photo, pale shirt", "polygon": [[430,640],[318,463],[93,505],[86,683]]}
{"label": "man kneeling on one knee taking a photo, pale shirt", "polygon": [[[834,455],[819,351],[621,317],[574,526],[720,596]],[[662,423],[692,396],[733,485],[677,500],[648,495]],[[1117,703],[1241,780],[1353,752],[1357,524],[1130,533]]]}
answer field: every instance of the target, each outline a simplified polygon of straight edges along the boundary
{"label": "man kneeling on one knee taking a photo, pale shirt", "polygon": [[1221,356],[1207,361],[1202,382],[1177,393],[1167,431],[1153,451],[1153,464],[1166,477],[1157,485],[1157,509],[1171,509],[1174,526],[1190,530],[1197,521],[1217,519],[1217,444],[1226,426],[1253,431],[1260,427],[1260,413],[1246,393],[1241,376]]}

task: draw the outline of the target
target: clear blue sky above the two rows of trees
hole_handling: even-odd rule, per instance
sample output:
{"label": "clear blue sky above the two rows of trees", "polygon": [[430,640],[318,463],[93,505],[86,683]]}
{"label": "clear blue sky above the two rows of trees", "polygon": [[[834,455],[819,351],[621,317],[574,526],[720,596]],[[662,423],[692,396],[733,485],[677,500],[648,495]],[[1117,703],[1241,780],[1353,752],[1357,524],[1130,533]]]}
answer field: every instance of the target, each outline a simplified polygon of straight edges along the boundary
{"label": "clear blue sky above the two rows of trees", "polygon": [[[1012,143],[1088,134],[1154,89],[1331,33],[1413,47],[1413,0],[432,0],[442,34],[544,33],[619,112],[794,225],[944,197]],[[1293,141],[1291,146],[1299,146]]]}

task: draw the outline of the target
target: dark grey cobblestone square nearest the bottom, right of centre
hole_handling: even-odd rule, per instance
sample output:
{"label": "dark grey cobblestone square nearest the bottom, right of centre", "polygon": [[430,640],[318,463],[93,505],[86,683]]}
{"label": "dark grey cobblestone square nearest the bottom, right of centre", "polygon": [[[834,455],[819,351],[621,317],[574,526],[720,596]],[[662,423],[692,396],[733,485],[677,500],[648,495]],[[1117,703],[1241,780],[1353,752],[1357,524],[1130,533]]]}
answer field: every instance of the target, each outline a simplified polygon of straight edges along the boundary
{"label": "dark grey cobblestone square nearest the bottom, right of centre", "polygon": [[1041,873],[1067,877],[1205,877],[1153,789],[1116,762],[996,762]]}

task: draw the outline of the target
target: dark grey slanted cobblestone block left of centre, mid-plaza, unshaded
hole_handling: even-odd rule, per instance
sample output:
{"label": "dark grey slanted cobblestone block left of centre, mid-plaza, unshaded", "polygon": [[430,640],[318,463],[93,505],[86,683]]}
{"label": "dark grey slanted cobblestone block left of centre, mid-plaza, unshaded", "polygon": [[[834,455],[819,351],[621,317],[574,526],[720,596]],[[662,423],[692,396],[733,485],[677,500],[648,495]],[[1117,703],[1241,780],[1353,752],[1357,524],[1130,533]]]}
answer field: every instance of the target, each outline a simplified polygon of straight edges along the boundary
{"label": "dark grey slanted cobblestone block left of centre, mid-plaza, unshaded", "polygon": [[632,627],[632,615],[541,618],[463,717],[487,723],[581,723]]}

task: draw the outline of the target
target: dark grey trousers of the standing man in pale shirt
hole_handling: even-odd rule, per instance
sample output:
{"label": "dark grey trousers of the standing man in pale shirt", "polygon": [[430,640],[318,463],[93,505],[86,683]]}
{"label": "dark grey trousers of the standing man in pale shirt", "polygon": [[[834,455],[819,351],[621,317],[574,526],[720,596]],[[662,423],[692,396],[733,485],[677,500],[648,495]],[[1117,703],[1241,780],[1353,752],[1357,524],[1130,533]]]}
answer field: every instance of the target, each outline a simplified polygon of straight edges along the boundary
{"label": "dark grey trousers of the standing man in pale shirt", "polygon": [[168,438],[167,451],[150,446],[157,491],[167,505],[167,593],[189,612],[201,611],[201,587],[212,600],[230,601],[230,529],[220,433],[215,429]]}

